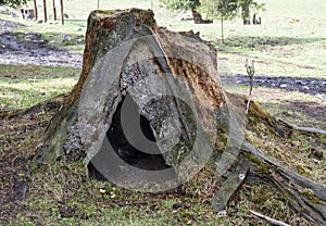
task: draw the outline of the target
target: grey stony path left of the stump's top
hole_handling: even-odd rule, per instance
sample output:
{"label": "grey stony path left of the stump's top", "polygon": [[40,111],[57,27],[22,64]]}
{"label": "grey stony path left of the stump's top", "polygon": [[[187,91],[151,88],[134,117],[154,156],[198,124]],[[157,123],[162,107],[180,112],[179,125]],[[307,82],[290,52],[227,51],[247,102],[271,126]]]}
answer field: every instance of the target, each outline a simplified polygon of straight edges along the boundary
{"label": "grey stony path left of the stump's top", "polygon": [[0,20],[0,64],[82,66],[82,54],[55,49],[37,33],[11,33],[18,26],[24,25]]}

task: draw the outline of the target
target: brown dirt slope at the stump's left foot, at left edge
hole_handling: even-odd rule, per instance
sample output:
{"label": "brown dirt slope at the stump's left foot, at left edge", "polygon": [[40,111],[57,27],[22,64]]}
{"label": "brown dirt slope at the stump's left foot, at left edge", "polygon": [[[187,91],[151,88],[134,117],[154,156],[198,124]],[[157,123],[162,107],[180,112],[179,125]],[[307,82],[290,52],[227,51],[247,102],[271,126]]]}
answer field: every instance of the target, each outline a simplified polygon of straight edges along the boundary
{"label": "brown dirt slope at the stump's left foot, at left edge", "polygon": [[33,111],[0,113],[0,224],[15,217],[26,198],[30,161],[58,106],[47,102]]}

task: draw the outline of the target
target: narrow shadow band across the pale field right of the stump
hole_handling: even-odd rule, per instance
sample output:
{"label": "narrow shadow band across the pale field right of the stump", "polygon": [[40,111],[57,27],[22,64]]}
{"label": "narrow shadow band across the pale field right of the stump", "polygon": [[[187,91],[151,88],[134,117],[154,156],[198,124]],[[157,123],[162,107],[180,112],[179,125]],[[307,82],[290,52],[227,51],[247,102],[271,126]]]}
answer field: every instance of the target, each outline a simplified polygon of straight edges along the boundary
{"label": "narrow shadow band across the pale field right of the stump", "polygon": [[291,38],[291,37],[253,37],[253,36],[234,36],[222,42],[217,40],[214,45],[218,50],[225,51],[228,48],[261,50],[265,47],[287,46],[310,43],[316,41],[324,41],[326,38]]}

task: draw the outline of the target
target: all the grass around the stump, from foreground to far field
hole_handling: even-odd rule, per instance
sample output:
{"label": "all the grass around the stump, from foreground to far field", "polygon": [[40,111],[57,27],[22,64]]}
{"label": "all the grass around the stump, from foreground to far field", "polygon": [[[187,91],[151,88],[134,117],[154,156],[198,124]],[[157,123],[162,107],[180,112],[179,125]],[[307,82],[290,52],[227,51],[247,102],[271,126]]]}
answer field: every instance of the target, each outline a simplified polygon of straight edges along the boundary
{"label": "all the grass around the stump, from foreground to far field", "polygon": [[[48,5],[51,5],[49,0],[48,2]],[[101,9],[151,7],[150,0],[101,0],[100,2]],[[200,32],[203,39],[216,46],[220,50],[220,73],[244,75],[244,61],[252,59],[256,62],[258,74],[326,77],[326,14],[324,13],[326,2],[324,0],[266,1],[266,11],[260,13],[263,24],[243,26],[240,18],[228,21],[225,26],[224,43],[220,39],[220,21],[216,20],[214,24],[209,25],[175,21],[178,12],[170,12],[161,8],[156,0],[152,2],[159,25],[172,30]],[[65,12],[70,18],[64,26],[52,22],[38,24],[16,18],[15,21],[29,25],[18,28],[17,32],[37,30],[55,47],[83,52],[83,45],[64,46],[62,36],[85,36],[86,18],[96,7],[96,1],[65,1]],[[1,17],[9,18],[2,15]],[[79,72],[80,68],[0,65],[0,108],[12,110],[32,106],[67,92],[78,79]],[[243,86],[228,86],[226,89],[241,95],[248,92],[248,87]],[[314,121],[296,109],[289,111],[283,105],[287,101],[323,104],[325,100],[317,97],[255,88],[254,100],[275,115],[292,118],[291,122],[296,124],[325,123]],[[39,112],[36,117],[49,116],[46,112]],[[2,131],[11,129],[10,133],[0,135],[0,140],[4,141],[1,154],[14,153],[21,156],[21,152],[26,152],[27,156],[33,156],[34,147],[38,145],[45,128],[37,127],[28,133],[18,133],[21,126],[29,124],[30,117],[27,116],[1,124]],[[255,134],[251,134],[250,137],[262,149],[266,152],[271,151],[275,159],[288,164],[289,167],[290,164],[296,165],[299,162],[298,168],[304,175],[314,178],[324,174],[322,161],[312,162],[308,159],[311,143],[304,138],[299,137],[290,143],[286,143],[285,140],[271,143],[271,137],[262,138]],[[284,153],[277,156],[279,152],[276,150],[288,150],[289,147],[300,153],[296,155]],[[28,159],[27,156],[24,158]],[[312,171],[311,168],[314,167],[317,170]],[[222,179],[216,179],[214,172],[209,170],[203,172],[205,173],[199,174],[186,184],[185,193],[179,196],[175,192],[160,194],[131,192],[116,188],[108,181],[88,180],[83,176],[85,168],[80,164],[45,167],[28,176],[28,180],[33,183],[27,200],[20,203],[23,210],[18,213],[13,211],[16,215],[8,219],[8,223],[10,225],[265,225],[264,222],[249,214],[249,210],[256,210],[293,225],[309,225],[290,210],[281,193],[265,185],[243,185],[243,189],[231,201],[227,216],[217,217],[211,209],[210,200]],[[21,175],[22,172],[17,171],[13,174]],[[105,193],[100,193],[100,189],[104,189]],[[173,204],[178,202],[185,203],[187,208],[173,209]],[[8,206],[8,209],[14,210],[15,206]]]}

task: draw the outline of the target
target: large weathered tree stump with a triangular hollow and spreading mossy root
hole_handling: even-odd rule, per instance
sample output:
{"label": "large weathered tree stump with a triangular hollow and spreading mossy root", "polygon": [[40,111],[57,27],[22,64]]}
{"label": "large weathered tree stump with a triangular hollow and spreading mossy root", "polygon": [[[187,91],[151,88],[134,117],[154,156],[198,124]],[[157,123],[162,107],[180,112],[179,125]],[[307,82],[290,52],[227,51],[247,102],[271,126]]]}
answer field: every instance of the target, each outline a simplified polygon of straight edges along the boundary
{"label": "large weathered tree stump with a triangular hollow and spreading mossy root", "polygon": [[[222,203],[216,211],[225,208],[243,179],[259,179],[283,190],[303,216],[325,225],[325,186],[285,170],[246,141],[244,108],[238,104],[244,101],[223,90],[216,68],[216,50],[211,45],[192,32],[158,27],[151,11],[92,12],[80,78],[49,126],[36,162],[49,164],[62,158],[84,160],[86,164],[95,161],[101,170],[108,164],[101,162],[105,155],[103,140],[108,138],[106,142],[120,149],[120,158],[130,165],[153,171],[173,166],[163,178],[173,187],[193,176],[214,152],[216,171],[229,177],[215,198]],[[149,155],[150,163],[121,136],[122,118],[126,116],[133,127],[139,123],[133,116],[137,113],[143,120],[143,133],[153,141],[147,145],[158,151]],[[254,103],[249,115],[281,133],[294,129],[273,120]],[[223,138],[225,134],[227,139]],[[138,138],[128,137],[128,141],[141,145]],[[224,152],[216,151],[223,148],[221,142]],[[109,160],[109,164],[116,162]],[[174,173],[181,176],[177,181],[168,180]],[[124,171],[110,174],[116,181],[139,176]],[[150,183],[155,176],[145,174],[140,179]],[[302,192],[303,188],[309,192]],[[160,189],[154,187],[153,191]]]}

